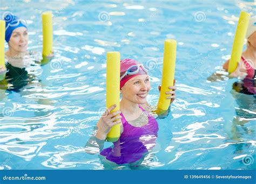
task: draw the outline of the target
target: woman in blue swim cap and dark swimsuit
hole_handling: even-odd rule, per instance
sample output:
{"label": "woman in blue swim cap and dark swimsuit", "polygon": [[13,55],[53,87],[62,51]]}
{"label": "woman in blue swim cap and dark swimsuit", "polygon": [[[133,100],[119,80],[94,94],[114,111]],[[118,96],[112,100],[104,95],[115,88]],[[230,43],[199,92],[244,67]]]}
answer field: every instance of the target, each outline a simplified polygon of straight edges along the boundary
{"label": "woman in blue swim cap and dark swimsuit", "polygon": [[[5,41],[8,43],[8,51],[5,52],[6,70],[0,66],[0,74],[5,74],[9,89],[19,90],[31,83],[35,76],[29,74],[29,67],[40,65],[42,55],[28,51],[29,34],[25,20],[15,16],[11,12],[3,14],[5,21]],[[0,81],[3,79],[0,79]]]}

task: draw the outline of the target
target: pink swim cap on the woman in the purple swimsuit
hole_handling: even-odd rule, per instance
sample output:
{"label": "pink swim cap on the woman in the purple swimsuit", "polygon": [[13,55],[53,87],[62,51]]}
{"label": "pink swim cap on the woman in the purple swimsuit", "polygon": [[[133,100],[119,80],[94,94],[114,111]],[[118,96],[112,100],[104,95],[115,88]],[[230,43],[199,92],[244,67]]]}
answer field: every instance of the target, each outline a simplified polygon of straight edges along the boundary
{"label": "pink swim cap on the woman in the purple swimsuit", "polygon": [[[123,59],[120,61],[120,77],[127,71],[128,68],[130,68],[133,65],[140,65],[141,63],[133,60],[133,59]],[[124,84],[132,79],[135,76],[138,75],[147,75],[147,73],[142,69],[142,67],[139,67],[139,72],[134,75],[126,75],[121,81],[120,81],[120,89],[124,86]]]}

